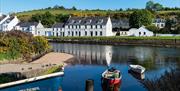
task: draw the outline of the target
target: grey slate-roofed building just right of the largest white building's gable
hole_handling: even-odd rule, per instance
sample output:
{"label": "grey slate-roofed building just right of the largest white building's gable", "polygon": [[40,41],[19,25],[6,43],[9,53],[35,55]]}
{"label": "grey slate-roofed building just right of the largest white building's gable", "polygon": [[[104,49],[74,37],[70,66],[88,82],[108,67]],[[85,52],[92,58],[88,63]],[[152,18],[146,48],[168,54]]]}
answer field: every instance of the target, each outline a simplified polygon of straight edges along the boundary
{"label": "grey slate-roofed building just right of the largest white building's gable", "polygon": [[112,27],[113,28],[130,28],[129,26],[129,19],[122,18],[122,19],[112,19]]}

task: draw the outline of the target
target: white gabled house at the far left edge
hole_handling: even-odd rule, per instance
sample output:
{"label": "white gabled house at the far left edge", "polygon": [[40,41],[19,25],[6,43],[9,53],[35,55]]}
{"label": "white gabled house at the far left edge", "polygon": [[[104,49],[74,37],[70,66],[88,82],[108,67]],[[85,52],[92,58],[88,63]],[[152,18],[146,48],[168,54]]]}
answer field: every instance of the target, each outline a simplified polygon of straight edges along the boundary
{"label": "white gabled house at the far left edge", "polygon": [[0,14],[0,31],[11,31],[19,23],[16,16]]}

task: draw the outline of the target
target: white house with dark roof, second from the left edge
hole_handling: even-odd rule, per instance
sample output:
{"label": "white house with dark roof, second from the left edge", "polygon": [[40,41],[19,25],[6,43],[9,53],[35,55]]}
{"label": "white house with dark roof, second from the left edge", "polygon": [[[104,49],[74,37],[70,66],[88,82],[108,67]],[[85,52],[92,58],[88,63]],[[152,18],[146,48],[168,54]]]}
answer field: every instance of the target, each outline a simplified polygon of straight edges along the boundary
{"label": "white house with dark roof, second from the left edge", "polygon": [[24,32],[30,32],[34,36],[37,36],[39,34],[38,30],[44,29],[44,26],[41,24],[41,22],[20,22],[15,26],[14,29]]}

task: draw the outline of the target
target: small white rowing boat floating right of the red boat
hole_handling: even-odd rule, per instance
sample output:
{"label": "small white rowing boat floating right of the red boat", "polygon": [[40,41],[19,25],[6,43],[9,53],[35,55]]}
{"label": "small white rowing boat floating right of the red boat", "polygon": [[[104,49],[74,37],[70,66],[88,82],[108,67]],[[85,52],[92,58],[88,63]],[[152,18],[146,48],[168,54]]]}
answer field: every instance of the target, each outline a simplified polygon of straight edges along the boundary
{"label": "small white rowing boat floating right of the red boat", "polygon": [[130,70],[137,72],[137,73],[144,73],[144,71],[146,70],[143,66],[141,65],[129,65]]}

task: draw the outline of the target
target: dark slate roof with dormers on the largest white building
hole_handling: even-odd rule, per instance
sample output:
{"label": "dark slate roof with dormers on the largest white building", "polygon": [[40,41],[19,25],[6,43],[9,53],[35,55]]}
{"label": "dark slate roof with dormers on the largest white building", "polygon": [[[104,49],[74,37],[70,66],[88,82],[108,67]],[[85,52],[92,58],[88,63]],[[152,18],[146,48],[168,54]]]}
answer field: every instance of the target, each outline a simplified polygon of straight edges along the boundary
{"label": "dark slate roof with dormers on the largest white building", "polygon": [[106,25],[107,17],[70,17],[66,25]]}

